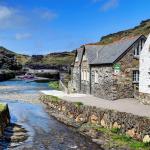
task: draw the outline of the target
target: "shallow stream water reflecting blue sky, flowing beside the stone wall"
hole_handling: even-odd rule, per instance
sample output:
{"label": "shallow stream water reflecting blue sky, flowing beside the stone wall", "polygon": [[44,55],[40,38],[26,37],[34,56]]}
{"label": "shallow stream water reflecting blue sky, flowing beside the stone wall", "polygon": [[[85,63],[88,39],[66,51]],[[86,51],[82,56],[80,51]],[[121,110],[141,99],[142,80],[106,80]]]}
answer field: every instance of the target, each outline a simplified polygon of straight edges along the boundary
{"label": "shallow stream water reflecting blue sky, flowing beside the stone wall", "polygon": [[[47,83],[27,83],[25,81],[1,82],[0,95],[5,94],[39,94],[48,89]],[[13,87],[13,88],[11,88]],[[19,99],[1,98],[0,102],[8,103],[11,122],[22,125],[28,132],[28,139],[21,143],[3,142],[2,149],[12,150],[98,150],[96,144],[76,133],[64,124],[50,117],[39,103],[24,102]]]}

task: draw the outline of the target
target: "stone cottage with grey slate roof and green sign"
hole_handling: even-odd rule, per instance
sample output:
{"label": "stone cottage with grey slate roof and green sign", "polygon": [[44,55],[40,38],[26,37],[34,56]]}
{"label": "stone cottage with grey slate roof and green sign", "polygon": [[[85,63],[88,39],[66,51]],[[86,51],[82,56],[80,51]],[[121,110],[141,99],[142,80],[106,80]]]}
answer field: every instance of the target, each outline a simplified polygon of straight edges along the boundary
{"label": "stone cottage with grey slate roof and green sign", "polygon": [[72,69],[75,91],[108,100],[136,96],[139,54],[145,41],[146,37],[141,35],[77,49]]}

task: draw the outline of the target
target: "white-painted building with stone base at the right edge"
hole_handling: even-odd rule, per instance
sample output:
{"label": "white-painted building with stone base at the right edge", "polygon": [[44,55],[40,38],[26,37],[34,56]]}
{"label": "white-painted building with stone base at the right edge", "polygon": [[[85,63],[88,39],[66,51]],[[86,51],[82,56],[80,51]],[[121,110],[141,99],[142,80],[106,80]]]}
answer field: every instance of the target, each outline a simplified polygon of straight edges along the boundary
{"label": "white-painted building with stone base at the right edge", "polygon": [[150,104],[150,35],[140,54],[139,99]]}

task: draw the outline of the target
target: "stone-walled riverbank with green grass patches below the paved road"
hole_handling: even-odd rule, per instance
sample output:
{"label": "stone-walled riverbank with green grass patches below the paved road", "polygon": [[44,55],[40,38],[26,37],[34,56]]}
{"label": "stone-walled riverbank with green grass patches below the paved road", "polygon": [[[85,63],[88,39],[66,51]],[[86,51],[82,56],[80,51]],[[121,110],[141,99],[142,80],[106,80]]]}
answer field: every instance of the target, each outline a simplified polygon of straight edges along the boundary
{"label": "stone-walled riverbank with green grass patches below the paved road", "polygon": [[150,119],[147,117],[85,106],[53,96],[42,96],[41,101],[51,116],[90,137],[103,149],[149,150]]}

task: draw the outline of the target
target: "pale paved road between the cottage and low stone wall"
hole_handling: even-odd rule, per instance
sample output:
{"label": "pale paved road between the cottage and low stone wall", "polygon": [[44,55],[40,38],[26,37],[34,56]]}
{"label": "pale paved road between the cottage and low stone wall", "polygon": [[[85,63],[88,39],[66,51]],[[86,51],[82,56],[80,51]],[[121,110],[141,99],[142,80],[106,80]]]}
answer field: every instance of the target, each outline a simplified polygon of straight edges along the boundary
{"label": "pale paved road between the cottage and low stone wall", "polygon": [[120,112],[132,113],[138,116],[150,117],[150,106],[139,103],[136,99],[104,100],[85,94],[65,94],[61,91],[42,91],[46,95],[57,96],[71,102],[82,102],[84,105],[113,109]]}

